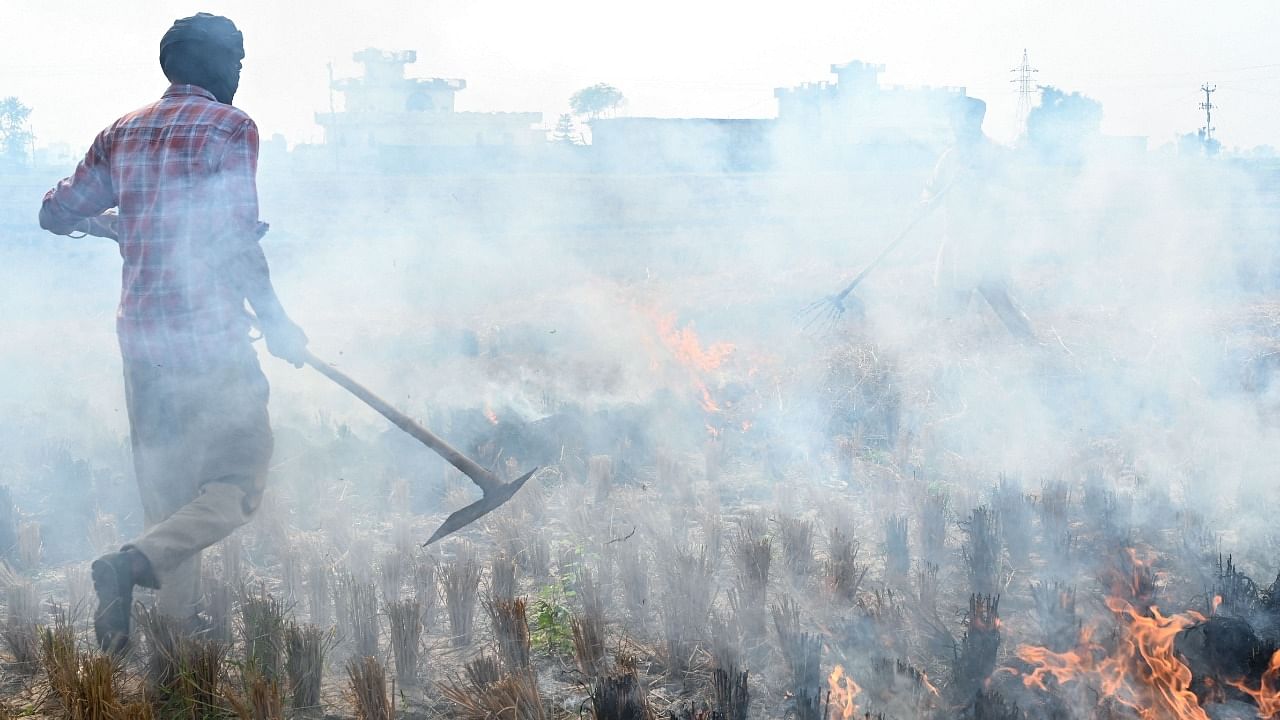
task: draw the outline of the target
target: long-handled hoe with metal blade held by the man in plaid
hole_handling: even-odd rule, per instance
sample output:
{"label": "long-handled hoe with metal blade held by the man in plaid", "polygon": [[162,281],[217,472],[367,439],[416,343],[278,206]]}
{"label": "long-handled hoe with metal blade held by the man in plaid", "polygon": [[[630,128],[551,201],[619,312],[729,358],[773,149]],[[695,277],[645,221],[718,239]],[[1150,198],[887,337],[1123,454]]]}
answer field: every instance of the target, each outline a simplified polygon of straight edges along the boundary
{"label": "long-handled hoe with metal blade held by the man in plaid", "polygon": [[516,491],[518,491],[525,482],[538,471],[538,468],[534,468],[515,480],[503,483],[497,475],[480,466],[479,462],[454,450],[453,446],[444,442],[439,436],[422,425],[419,425],[408,415],[392,407],[387,401],[370,392],[369,388],[347,377],[346,373],[338,370],[333,365],[329,365],[310,352],[307,352],[306,363],[319,370],[321,375],[338,383],[346,388],[347,392],[358,397],[365,405],[378,410],[397,428],[413,436],[419,442],[434,450],[436,455],[444,457],[449,465],[453,465],[461,470],[463,475],[471,478],[471,482],[479,486],[480,491],[484,492],[484,497],[471,505],[467,505],[462,510],[456,511],[453,515],[449,515],[448,519],[444,520],[444,524],[435,530],[435,534],[422,543],[424,546],[431,544],[451,533],[456,533],[471,523],[475,523],[490,511],[497,510],[504,502],[511,500],[511,496],[516,495]]}

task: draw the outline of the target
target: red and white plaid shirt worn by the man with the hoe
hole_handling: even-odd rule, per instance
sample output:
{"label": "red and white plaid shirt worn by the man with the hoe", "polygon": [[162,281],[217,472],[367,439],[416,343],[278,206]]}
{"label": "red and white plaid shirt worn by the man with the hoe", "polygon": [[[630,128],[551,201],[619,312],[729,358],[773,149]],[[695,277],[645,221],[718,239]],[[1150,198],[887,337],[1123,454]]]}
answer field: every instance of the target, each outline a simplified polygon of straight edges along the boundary
{"label": "red and white plaid shirt worn by the man with the hoe", "polygon": [[49,229],[119,208],[116,333],[128,361],[207,368],[248,346],[233,260],[261,252],[257,126],[193,85],[124,115],[45,195]]}

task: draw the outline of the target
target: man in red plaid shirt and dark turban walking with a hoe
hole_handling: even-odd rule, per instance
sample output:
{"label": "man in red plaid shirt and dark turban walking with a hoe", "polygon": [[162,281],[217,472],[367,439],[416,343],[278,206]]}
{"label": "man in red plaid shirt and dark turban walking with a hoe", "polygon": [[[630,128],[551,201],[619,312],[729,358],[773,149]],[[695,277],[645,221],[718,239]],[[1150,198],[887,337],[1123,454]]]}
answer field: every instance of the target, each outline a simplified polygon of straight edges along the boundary
{"label": "man in red plaid shirt and dark turban walking with a hoe", "polygon": [[174,22],[160,40],[169,88],[99,133],[40,208],[40,227],[113,238],[124,260],[116,334],[147,529],[92,565],[93,630],[111,652],[134,585],[201,628],[200,553],[261,501],[273,438],[244,302],[273,355],[306,357],[259,245],[257,126],[232,106],[243,58],[232,20]]}

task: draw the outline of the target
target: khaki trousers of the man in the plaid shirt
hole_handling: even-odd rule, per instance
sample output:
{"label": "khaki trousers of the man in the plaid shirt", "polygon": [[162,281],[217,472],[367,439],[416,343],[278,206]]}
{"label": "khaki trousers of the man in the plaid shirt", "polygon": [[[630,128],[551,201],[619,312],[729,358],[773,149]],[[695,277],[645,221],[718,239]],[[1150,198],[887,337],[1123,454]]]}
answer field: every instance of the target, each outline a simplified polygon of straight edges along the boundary
{"label": "khaki trousers of the man in the plaid shirt", "polygon": [[247,342],[211,369],[125,360],[133,466],[146,530],[125,544],[151,562],[156,605],[200,610],[200,555],[257,510],[271,460],[268,384]]}

